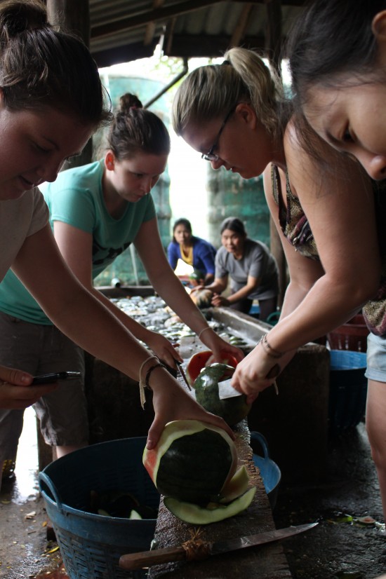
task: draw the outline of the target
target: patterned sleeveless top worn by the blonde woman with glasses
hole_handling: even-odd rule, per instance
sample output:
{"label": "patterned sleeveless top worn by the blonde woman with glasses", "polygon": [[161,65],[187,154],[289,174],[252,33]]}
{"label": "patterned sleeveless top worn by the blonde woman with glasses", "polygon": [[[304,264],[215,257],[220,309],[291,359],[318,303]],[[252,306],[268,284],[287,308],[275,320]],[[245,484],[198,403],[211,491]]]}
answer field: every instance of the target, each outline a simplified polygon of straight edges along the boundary
{"label": "patterned sleeveless top worn by the blonde woman with glasses", "polygon": [[[274,200],[279,207],[279,223],[285,238],[295,247],[296,251],[305,257],[319,260],[317,244],[312,235],[310,224],[299,199],[291,191],[288,172],[286,171],[287,206],[284,203],[279,169],[276,165],[271,165],[271,178]],[[377,336],[386,337],[386,179],[372,183],[382,266],[378,292],[373,299],[366,303],[362,312],[368,329]]]}

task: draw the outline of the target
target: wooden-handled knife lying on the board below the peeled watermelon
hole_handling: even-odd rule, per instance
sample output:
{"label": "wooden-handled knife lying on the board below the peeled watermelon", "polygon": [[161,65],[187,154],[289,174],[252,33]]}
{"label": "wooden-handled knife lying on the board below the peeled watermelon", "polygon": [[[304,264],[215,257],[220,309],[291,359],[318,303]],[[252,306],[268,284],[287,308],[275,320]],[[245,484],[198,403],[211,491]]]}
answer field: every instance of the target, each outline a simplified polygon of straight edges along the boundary
{"label": "wooden-handled knife lying on the board below the peeled watermelon", "polygon": [[[303,533],[312,529],[318,523],[308,523],[305,525],[287,526],[286,529],[276,529],[274,531],[267,531],[266,533],[258,533],[257,535],[248,535],[238,539],[229,539],[225,541],[217,541],[216,543],[205,543],[206,553],[202,556],[202,551],[197,554],[197,557],[189,557],[192,559],[208,559],[212,555],[226,553],[228,551],[235,551],[244,549],[245,547],[253,547],[255,545],[262,545],[263,543],[271,543],[272,541],[285,539],[298,533]],[[194,553],[194,550],[189,550]],[[122,555],[119,559],[119,566],[127,570],[141,569],[142,567],[150,567],[152,565],[159,565],[162,563],[169,563],[171,561],[185,561],[187,560],[187,550],[184,547],[166,547],[165,549],[155,549],[154,551],[143,551],[140,553],[130,553]]]}

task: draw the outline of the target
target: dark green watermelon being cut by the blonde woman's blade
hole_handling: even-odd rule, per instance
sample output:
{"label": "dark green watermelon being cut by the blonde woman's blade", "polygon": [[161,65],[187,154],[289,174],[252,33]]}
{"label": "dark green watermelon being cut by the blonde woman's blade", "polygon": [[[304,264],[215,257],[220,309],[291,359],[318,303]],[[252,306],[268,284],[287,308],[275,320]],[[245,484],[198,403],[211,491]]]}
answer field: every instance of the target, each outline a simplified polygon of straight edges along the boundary
{"label": "dark green watermelon being cut by the blonde woman's blade", "polygon": [[246,418],[251,410],[251,404],[246,402],[244,394],[220,400],[218,383],[229,379],[233,373],[234,368],[228,365],[212,364],[202,369],[194,381],[197,402],[208,412],[224,418],[229,426]]}

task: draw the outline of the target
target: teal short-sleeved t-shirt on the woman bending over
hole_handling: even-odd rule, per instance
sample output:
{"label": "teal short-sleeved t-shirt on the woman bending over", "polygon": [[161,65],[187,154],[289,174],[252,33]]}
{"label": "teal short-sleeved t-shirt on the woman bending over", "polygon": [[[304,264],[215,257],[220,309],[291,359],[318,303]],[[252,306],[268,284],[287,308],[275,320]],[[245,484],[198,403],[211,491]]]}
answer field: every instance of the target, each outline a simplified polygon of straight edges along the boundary
{"label": "teal short-sleeved t-shirt on the woman bending over", "polygon": [[[59,173],[53,183],[39,186],[50,210],[50,224],[60,221],[93,235],[93,279],[128,247],[143,222],[155,217],[154,202],[146,195],[127,202],[124,214],[114,219],[102,194],[103,162],[96,161]],[[0,283],[0,311],[27,322],[51,325],[39,304],[12,271]]]}

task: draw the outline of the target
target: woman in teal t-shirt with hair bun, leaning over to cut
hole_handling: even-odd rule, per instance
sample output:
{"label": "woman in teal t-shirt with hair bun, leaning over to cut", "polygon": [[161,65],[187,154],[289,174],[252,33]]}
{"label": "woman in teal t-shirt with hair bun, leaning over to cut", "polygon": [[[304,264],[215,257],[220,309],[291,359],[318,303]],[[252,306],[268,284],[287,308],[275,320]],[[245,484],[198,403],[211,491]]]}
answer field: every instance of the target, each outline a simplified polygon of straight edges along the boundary
{"label": "woman in teal t-shirt with hair bun, leaning over to cut", "polygon": [[[169,151],[170,138],[161,119],[143,109],[138,97],[126,94],[109,130],[103,158],[60,172],[55,182],[43,184],[41,191],[56,243],[76,278],[121,325],[175,367],[175,361],[181,358],[171,343],[135,322],[92,283],[134,243],[152,286],[168,305],[197,334],[208,328],[202,341],[214,353],[232,349],[209,329],[168,265],[161,245],[149,193],[165,170]],[[34,355],[27,348],[31,342],[39,344]],[[240,350],[234,350],[234,354],[242,357]],[[0,284],[0,362],[10,360],[14,367],[32,374],[53,372],[58,367],[81,372],[81,379],[63,383],[55,393],[36,402],[34,409],[44,439],[56,447],[58,456],[88,444],[84,352],[52,324],[12,271]],[[7,414],[11,420],[12,411]],[[20,413],[14,416],[20,421]],[[13,429],[17,434],[19,430]],[[4,436],[0,421],[0,438]],[[18,435],[13,435],[14,449],[17,441]]]}

